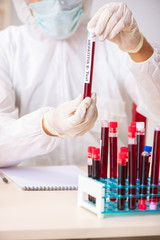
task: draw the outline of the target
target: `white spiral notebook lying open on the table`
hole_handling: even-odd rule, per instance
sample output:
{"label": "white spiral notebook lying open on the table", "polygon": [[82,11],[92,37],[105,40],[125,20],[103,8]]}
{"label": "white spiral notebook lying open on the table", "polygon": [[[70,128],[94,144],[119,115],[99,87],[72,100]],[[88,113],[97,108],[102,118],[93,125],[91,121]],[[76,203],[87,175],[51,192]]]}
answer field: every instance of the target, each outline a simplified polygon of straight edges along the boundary
{"label": "white spiral notebook lying open on the table", "polygon": [[77,190],[78,176],[86,173],[74,165],[11,167],[0,171],[24,190]]}

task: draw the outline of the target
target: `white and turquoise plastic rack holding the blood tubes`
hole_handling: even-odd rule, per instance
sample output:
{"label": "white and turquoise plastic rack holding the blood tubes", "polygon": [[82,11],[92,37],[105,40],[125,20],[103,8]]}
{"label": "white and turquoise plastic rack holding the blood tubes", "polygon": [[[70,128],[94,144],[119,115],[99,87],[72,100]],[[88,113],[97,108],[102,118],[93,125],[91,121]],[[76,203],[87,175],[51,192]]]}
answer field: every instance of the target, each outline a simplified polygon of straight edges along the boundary
{"label": "white and turquoise plastic rack holding the blood tubes", "polygon": [[[117,208],[117,199],[121,198],[122,196],[118,195],[118,189],[122,188],[122,186],[118,185],[117,179],[100,179],[95,180],[89,177],[79,175],[78,179],[78,206],[84,207],[87,210],[95,213],[99,218],[107,217],[108,214],[113,213],[150,213],[150,212],[159,212],[160,213],[160,202],[158,202],[158,207],[156,210],[149,209],[149,197],[159,197],[160,200],[160,181],[158,185],[158,194],[150,194],[150,187],[157,187],[156,185],[150,185],[150,178],[148,178],[148,185],[140,185],[137,181],[136,184],[136,197],[139,199],[140,197],[144,197],[143,194],[139,194],[140,188],[147,187],[147,209],[146,210],[139,210],[138,209],[138,202],[135,210],[129,210],[128,208],[128,198],[133,197],[128,193],[128,189],[132,188],[133,186],[128,185],[128,179],[126,179],[125,185],[125,209],[118,210]],[[88,200],[88,195],[94,197],[96,199],[96,203],[93,203]],[[123,196],[124,197],[124,196]],[[116,201],[110,201],[110,198],[116,198]]]}

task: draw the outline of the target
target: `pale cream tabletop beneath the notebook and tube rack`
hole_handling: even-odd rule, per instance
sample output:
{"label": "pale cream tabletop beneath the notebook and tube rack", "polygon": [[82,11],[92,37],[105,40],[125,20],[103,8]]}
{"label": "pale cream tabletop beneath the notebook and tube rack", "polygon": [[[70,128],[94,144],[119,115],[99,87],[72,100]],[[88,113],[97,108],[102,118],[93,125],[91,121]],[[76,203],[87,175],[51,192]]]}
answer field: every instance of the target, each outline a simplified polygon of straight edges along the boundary
{"label": "pale cream tabletop beneath the notebook and tube rack", "polygon": [[77,191],[24,191],[0,180],[0,240],[134,236],[160,236],[160,213],[98,219],[77,206]]}

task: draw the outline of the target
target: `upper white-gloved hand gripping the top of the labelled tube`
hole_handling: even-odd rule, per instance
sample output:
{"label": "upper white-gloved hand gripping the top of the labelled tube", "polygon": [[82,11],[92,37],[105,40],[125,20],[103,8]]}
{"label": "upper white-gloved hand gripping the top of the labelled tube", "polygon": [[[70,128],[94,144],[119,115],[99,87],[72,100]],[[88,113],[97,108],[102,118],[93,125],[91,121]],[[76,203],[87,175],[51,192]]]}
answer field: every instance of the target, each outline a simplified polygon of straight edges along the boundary
{"label": "upper white-gloved hand gripping the top of the labelled tube", "polygon": [[125,3],[113,2],[100,8],[88,29],[94,29],[100,41],[110,40],[125,52],[138,52],[143,45],[143,35]]}

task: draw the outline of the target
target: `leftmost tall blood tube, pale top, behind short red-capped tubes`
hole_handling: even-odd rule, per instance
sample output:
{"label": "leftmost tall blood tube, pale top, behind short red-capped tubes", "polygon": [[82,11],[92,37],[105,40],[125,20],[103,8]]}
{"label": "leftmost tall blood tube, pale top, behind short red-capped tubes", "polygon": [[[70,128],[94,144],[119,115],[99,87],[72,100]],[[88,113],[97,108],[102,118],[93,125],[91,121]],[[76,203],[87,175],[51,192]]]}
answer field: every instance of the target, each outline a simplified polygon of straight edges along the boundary
{"label": "leftmost tall blood tube, pale top, behind short red-capped tubes", "polygon": [[108,170],[108,137],[109,137],[109,124],[104,120],[101,124],[101,141],[100,141],[100,177],[107,178]]}

